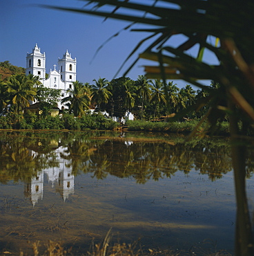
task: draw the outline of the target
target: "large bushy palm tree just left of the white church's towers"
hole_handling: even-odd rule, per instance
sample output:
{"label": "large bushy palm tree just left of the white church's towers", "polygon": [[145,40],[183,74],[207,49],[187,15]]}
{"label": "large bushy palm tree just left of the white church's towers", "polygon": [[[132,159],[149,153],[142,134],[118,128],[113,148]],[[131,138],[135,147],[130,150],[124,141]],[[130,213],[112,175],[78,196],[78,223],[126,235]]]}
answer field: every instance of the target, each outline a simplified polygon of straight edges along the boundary
{"label": "large bushy palm tree just left of the white church's towers", "polygon": [[30,106],[30,102],[35,100],[37,89],[34,87],[37,78],[23,74],[12,75],[6,82],[7,92],[10,96],[12,109],[16,113],[21,113],[25,107]]}

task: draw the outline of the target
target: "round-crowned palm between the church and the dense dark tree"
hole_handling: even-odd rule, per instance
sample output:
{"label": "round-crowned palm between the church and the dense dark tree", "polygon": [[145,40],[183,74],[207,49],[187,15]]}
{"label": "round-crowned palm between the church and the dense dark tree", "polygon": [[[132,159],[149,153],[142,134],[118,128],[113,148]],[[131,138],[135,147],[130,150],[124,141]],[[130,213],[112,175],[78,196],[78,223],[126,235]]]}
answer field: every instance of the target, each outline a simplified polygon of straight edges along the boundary
{"label": "round-crowned palm between the church and the dense dark tree", "polygon": [[112,93],[108,91],[108,80],[106,78],[99,77],[99,80],[93,80],[95,84],[92,84],[92,102],[98,104],[98,112],[100,112],[101,103],[108,103],[110,96]]}

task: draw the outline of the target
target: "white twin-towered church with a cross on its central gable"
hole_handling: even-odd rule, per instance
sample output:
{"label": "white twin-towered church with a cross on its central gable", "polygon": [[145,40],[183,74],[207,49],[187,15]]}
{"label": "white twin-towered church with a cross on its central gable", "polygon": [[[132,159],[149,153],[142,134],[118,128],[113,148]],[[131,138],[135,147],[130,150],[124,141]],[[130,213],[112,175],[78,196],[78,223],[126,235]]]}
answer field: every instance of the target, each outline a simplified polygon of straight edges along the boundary
{"label": "white twin-towered church with a cross on its central gable", "polygon": [[59,109],[63,107],[61,100],[67,97],[68,89],[72,89],[72,82],[76,82],[77,60],[72,59],[71,54],[64,53],[64,56],[58,58],[58,68],[54,65],[54,69],[50,68],[50,73],[46,79],[46,54],[41,53],[41,49],[35,44],[32,53],[26,55],[26,75],[38,75],[41,83],[50,89],[61,89],[61,98],[58,100]]}

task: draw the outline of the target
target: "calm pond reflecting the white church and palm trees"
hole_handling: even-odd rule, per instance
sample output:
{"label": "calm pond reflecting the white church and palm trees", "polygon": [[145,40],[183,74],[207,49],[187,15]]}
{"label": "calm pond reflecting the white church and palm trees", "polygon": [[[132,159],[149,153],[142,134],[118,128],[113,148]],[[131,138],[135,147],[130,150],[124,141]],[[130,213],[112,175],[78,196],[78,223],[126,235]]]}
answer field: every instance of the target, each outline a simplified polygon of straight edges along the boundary
{"label": "calm pond reflecting the white church and palm trees", "polygon": [[[86,254],[104,240],[144,253],[233,253],[235,192],[227,138],[168,134],[0,133],[0,252],[49,240]],[[246,190],[253,212],[253,157]]]}

